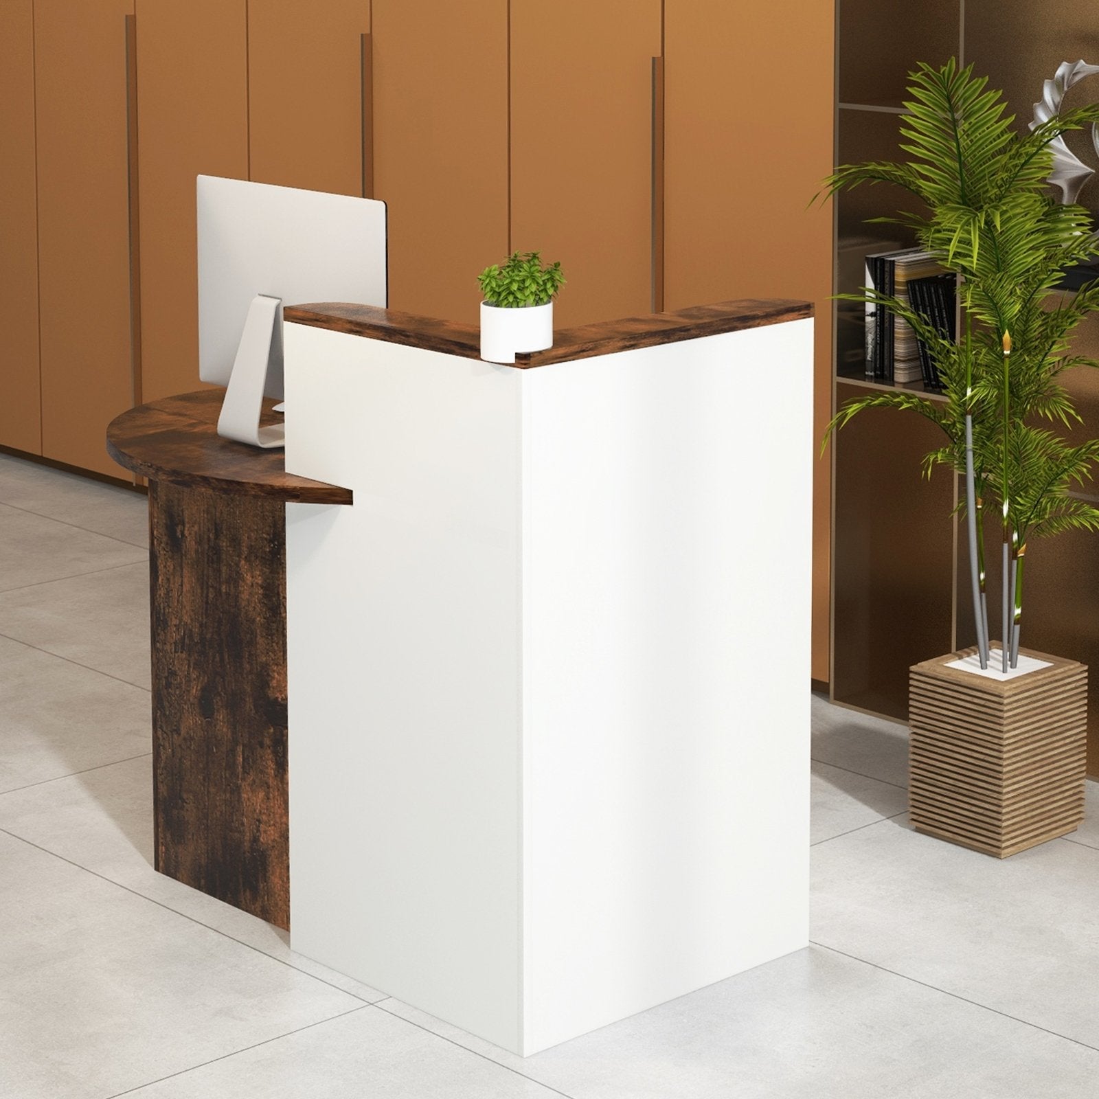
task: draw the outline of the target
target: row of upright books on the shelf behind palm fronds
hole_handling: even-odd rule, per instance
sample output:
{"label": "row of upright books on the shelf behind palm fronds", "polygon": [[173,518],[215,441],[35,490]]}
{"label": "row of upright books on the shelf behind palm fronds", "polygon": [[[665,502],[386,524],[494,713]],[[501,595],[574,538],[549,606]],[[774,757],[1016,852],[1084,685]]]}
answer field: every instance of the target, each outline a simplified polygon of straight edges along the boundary
{"label": "row of upright books on the shelf behind palm fronds", "polygon": [[[866,286],[911,306],[909,284],[942,275],[942,265],[921,248],[877,252],[866,257]],[[924,358],[928,362],[924,362]],[[866,303],[866,377],[907,385],[928,382],[930,357],[908,322],[890,310]]]}

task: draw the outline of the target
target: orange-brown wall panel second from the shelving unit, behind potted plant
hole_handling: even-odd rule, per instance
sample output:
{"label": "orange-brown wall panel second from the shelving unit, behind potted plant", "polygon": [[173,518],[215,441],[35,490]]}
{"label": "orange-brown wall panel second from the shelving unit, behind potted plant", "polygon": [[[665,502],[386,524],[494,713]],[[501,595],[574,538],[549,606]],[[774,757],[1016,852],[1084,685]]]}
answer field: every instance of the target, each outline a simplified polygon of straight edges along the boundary
{"label": "orange-brown wall panel second from the shelving unit, behind potted plant", "polygon": [[511,244],[560,260],[557,326],[651,310],[659,53],[659,0],[512,5]]}

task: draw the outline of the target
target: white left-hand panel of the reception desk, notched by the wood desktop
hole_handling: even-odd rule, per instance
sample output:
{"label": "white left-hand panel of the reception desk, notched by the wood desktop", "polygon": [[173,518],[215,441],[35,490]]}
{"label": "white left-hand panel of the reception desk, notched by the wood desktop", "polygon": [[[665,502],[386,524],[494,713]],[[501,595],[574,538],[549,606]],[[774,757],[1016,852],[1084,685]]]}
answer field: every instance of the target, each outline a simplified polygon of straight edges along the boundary
{"label": "white left-hand panel of the reception desk, notched by the wood desktop", "polygon": [[[286,326],[293,948],[520,1041],[514,371]],[[297,364],[308,364],[295,369]]]}

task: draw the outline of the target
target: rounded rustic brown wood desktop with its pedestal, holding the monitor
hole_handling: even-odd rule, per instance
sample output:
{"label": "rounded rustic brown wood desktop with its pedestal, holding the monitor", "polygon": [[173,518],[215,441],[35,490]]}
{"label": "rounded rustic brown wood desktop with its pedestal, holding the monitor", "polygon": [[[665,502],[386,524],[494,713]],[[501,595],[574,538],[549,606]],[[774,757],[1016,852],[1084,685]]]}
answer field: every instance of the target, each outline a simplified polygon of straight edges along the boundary
{"label": "rounded rustic brown wood desktop with its pedestal, holding the monitor", "polygon": [[352,493],[221,439],[221,400],[170,397],[108,429],[149,481],[154,865],[288,928],[284,504]]}

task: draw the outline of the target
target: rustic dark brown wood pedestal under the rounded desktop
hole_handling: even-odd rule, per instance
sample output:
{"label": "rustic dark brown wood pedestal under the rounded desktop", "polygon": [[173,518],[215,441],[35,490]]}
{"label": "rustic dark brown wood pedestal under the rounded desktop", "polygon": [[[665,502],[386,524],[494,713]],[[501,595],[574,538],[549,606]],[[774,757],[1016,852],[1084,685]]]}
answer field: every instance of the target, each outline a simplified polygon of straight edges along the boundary
{"label": "rustic dark brown wood pedestal under the rounded desktop", "polygon": [[148,502],[155,865],[288,928],[285,507]]}

